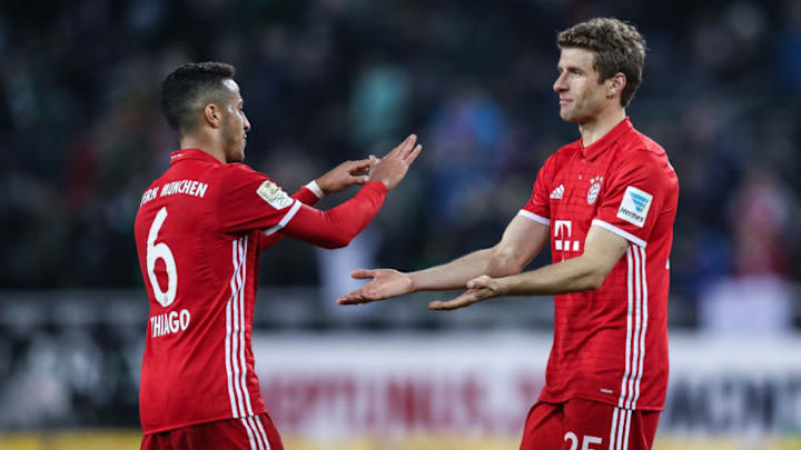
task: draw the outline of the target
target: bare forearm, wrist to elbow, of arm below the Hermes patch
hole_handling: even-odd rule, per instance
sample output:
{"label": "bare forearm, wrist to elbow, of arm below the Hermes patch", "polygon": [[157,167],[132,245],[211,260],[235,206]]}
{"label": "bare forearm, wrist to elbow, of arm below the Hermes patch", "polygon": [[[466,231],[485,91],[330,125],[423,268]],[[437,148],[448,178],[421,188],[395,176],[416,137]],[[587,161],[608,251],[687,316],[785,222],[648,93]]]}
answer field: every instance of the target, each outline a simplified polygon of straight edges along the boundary
{"label": "bare forearm, wrist to elbow, of arm below the Hermes patch", "polygon": [[553,296],[597,289],[605,276],[597,264],[578,257],[496,281],[502,296]]}

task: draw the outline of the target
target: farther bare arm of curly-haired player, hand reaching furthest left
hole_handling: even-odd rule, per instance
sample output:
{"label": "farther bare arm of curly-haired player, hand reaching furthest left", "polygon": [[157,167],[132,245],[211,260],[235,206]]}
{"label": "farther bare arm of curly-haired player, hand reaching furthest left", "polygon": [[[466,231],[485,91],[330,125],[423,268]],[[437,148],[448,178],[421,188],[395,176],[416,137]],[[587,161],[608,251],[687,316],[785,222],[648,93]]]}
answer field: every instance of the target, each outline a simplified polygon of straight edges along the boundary
{"label": "farther bare arm of curly-haired player, hand reaching furthest left", "polygon": [[339,304],[367,303],[425,290],[462,289],[482,274],[504,277],[520,272],[540,253],[548,237],[548,228],[527,218],[515,216],[501,242],[446,264],[412,273],[390,269],[356,270],[353,277],[372,279],[362,288],[340,297]]}

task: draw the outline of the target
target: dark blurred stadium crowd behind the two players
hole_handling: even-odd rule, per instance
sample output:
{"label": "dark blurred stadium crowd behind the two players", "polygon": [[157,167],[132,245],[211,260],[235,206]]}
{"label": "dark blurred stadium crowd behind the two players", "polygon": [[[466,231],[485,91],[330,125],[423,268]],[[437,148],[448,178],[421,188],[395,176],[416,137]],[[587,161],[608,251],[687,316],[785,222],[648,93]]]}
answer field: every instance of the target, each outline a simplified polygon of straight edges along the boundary
{"label": "dark blurred stadium crowd behind the two players", "polygon": [[[545,158],[577,138],[551,89],[554,40],[593,16],[649,42],[629,113],[682,183],[674,301],[694,311],[726,277],[797,282],[798,0],[79,0],[0,12],[0,284],[141,286],[132,219],[177,146],[159,83],[198,60],[238,68],[247,162],[287,190],[419,134],[425,153],[357,243],[359,263],[413,269],[492,244]],[[319,254],[281,242],[261,282],[323,282]]]}

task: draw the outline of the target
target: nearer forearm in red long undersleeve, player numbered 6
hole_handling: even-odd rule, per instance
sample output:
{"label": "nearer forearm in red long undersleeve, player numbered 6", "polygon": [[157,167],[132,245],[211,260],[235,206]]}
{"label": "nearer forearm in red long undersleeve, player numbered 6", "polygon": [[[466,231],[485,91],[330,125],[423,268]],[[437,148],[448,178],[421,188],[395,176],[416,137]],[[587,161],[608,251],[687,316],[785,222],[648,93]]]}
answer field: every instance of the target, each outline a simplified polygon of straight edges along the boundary
{"label": "nearer forearm in red long undersleeve, player numbered 6", "polygon": [[301,207],[284,233],[327,249],[345,247],[373,220],[386,193],[383,183],[373,181],[350,200],[328,211]]}

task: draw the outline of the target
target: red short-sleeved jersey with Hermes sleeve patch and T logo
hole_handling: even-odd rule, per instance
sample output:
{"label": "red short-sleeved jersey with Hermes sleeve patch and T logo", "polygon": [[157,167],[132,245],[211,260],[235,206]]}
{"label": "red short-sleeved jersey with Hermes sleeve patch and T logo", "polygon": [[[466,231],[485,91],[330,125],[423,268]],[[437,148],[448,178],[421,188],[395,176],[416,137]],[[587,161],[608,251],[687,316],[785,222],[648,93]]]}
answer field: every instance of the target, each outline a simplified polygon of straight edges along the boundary
{"label": "red short-sleeved jersey with Hermes sleeve patch and T logo", "polygon": [[668,387],[668,290],[679,181],[626,118],[601,140],[551,156],[520,214],[551,227],[553,262],[581,256],[591,226],[630,243],[597,290],[554,296],[541,401],[582,398],[661,410]]}

